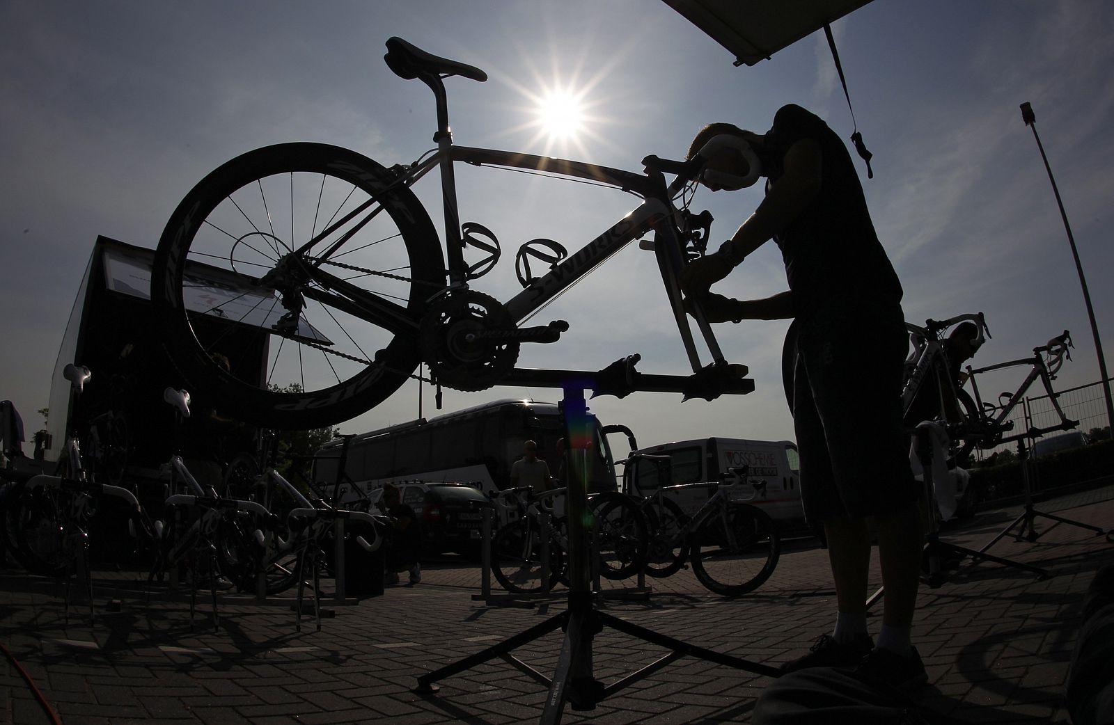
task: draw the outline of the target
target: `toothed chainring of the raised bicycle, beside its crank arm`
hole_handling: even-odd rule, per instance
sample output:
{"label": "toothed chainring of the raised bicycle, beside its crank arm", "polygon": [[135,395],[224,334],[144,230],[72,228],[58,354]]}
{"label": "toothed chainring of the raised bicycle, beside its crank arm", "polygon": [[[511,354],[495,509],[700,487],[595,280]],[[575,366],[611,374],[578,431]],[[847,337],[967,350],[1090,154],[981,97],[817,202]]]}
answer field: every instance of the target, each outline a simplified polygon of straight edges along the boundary
{"label": "toothed chainring of the raised bicycle, beside its crank arm", "polygon": [[487,390],[515,369],[519,343],[483,335],[512,330],[515,321],[498,300],[471,290],[450,292],[422,319],[422,356],[446,388]]}

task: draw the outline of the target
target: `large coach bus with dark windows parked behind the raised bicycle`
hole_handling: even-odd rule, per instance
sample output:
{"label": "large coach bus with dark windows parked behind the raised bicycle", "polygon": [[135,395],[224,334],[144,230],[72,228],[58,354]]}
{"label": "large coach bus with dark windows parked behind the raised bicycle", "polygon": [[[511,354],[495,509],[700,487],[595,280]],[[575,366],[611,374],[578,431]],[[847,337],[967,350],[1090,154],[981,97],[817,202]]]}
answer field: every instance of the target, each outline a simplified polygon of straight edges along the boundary
{"label": "large coach bus with dark windows parked behind the raised bicycle", "polygon": [[[615,464],[607,434],[624,425],[602,428],[596,421],[588,452],[589,493],[616,490]],[[462,482],[482,491],[510,486],[510,467],[522,457],[522,443],[534,440],[538,458],[554,474],[560,470],[564,423],[554,403],[498,400],[455,413],[399,423],[363,433],[349,442],[344,472],[364,491],[388,482]],[[314,480],[336,480],[342,439],[326,443],[315,457]]]}

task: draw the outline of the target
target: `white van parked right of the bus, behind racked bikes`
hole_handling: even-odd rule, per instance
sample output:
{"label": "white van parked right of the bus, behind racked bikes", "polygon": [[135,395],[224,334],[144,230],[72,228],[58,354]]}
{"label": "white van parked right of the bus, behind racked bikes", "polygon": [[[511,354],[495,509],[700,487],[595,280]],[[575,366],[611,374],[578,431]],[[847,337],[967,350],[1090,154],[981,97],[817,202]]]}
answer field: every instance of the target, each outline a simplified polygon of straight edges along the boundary
{"label": "white van parked right of the bus, behind racked bikes", "polygon": [[[663,486],[685,513],[695,513],[715,492],[706,482],[731,482],[730,469],[746,466],[746,483],[764,483],[750,501],[773,519],[801,520],[800,455],[792,441],[703,438],[642,448],[631,453],[623,472],[623,490],[653,496]],[[705,483],[705,484],[702,484]],[[745,497],[744,497],[745,498]]]}

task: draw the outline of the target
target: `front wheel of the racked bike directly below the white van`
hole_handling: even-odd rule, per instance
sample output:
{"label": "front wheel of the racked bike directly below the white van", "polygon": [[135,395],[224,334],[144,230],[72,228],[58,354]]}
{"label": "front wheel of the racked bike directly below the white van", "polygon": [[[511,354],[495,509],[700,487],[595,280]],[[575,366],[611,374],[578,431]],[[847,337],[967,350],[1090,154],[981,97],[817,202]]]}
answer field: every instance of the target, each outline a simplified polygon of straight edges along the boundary
{"label": "front wheel of the racked bike directly below the white van", "polygon": [[754,506],[732,503],[696,531],[691,559],[693,574],[704,587],[737,597],[770,578],[780,553],[773,519]]}

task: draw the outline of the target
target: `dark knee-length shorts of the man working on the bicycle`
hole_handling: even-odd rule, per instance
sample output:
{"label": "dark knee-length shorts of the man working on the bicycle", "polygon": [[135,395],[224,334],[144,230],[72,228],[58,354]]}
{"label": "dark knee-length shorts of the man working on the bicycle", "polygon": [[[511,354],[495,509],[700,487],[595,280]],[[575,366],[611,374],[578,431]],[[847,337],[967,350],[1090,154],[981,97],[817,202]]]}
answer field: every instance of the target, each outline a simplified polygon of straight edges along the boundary
{"label": "dark knee-length shorts of the man working on the bicycle", "polygon": [[798,320],[793,424],[805,518],[858,519],[916,501],[901,420],[901,306],[837,300]]}

